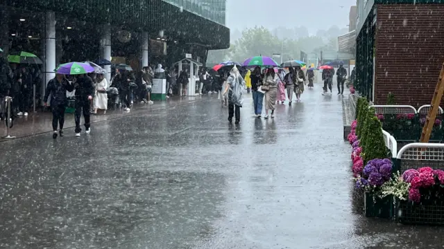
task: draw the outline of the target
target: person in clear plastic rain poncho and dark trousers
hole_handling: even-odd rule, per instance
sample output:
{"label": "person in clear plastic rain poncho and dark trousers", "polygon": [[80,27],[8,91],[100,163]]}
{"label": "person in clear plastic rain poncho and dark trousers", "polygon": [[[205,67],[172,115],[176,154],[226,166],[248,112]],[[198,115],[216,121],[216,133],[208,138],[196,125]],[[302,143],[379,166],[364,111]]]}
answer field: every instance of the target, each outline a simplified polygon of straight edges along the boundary
{"label": "person in clear plastic rain poncho and dark trousers", "polygon": [[242,97],[242,89],[245,87],[244,78],[239,73],[239,69],[234,66],[230,71],[230,76],[227,79],[227,86],[223,95],[228,92],[228,122],[232,123],[233,116],[235,116],[235,124],[241,122],[241,107],[244,102]]}

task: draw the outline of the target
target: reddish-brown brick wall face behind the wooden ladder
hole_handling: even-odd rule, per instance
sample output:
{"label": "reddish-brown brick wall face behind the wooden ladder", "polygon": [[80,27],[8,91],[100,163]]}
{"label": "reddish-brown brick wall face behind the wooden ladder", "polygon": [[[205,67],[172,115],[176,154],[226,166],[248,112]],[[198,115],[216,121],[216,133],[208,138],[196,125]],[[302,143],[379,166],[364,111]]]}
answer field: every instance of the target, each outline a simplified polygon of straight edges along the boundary
{"label": "reddish-brown brick wall face behind the wooden ladder", "polygon": [[444,62],[444,4],[378,4],[375,104],[432,101]]}

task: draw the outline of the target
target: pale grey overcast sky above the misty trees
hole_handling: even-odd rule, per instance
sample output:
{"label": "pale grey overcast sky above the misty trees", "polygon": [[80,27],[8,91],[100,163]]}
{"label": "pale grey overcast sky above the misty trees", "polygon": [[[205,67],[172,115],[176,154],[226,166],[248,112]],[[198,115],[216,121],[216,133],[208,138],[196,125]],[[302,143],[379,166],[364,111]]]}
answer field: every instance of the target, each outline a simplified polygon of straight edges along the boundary
{"label": "pale grey overcast sky above the misty trees", "polygon": [[227,0],[227,26],[239,30],[305,26],[315,35],[316,30],[332,25],[345,28],[354,5],[356,0]]}

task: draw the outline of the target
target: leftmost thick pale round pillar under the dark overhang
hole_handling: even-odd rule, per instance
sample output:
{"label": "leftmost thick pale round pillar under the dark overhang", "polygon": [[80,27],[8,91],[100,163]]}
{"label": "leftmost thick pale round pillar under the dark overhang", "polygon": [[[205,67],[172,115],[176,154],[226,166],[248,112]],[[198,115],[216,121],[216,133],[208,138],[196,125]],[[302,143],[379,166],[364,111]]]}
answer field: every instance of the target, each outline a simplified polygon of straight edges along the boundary
{"label": "leftmost thick pale round pillar under the dark overhang", "polygon": [[[52,11],[46,12],[44,30],[44,85],[42,96],[46,91],[49,80],[56,77],[56,14]],[[43,100],[42,100],[43,101]],[[43,104],[43,103],[42,103]]]}

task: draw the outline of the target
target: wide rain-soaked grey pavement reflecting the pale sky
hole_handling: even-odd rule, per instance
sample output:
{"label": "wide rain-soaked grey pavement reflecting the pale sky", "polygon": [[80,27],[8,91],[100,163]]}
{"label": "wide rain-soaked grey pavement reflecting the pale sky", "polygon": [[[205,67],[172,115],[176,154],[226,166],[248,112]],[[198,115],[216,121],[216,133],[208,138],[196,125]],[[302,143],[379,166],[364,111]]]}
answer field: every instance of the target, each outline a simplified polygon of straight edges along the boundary
{"label": "wide rain-soaked grey pavement reflecting the pale sky", "polygon": [[341,98],[318,83],[273,120],[247,95],[239,126],[213,98],[2,142],[0,248],[442,248],[441,228],[361,214]]}

